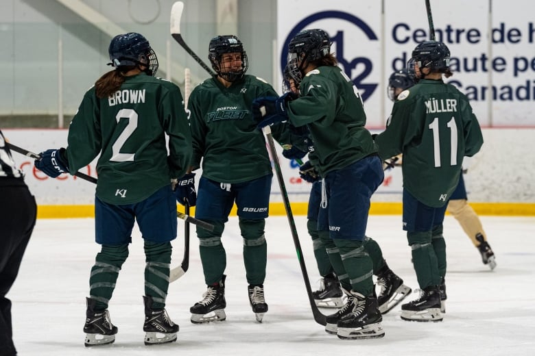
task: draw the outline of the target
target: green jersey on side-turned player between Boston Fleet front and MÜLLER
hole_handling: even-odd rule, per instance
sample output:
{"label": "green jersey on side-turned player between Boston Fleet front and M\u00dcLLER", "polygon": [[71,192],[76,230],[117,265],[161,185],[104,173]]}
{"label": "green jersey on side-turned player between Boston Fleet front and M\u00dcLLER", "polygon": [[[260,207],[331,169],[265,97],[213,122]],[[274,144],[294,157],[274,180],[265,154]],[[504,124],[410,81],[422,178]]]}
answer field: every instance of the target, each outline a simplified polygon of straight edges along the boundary
{"label": "green jersey on side-turned player between Boston Fleet front and M\u00dcLLER", "polygon": [[320,66],[305,75],[300,97],[288,103],[290,123],[307,125],[314,145],[313,164],[324,177],[377,152],[366,125],[362,100],[337,66]]}

